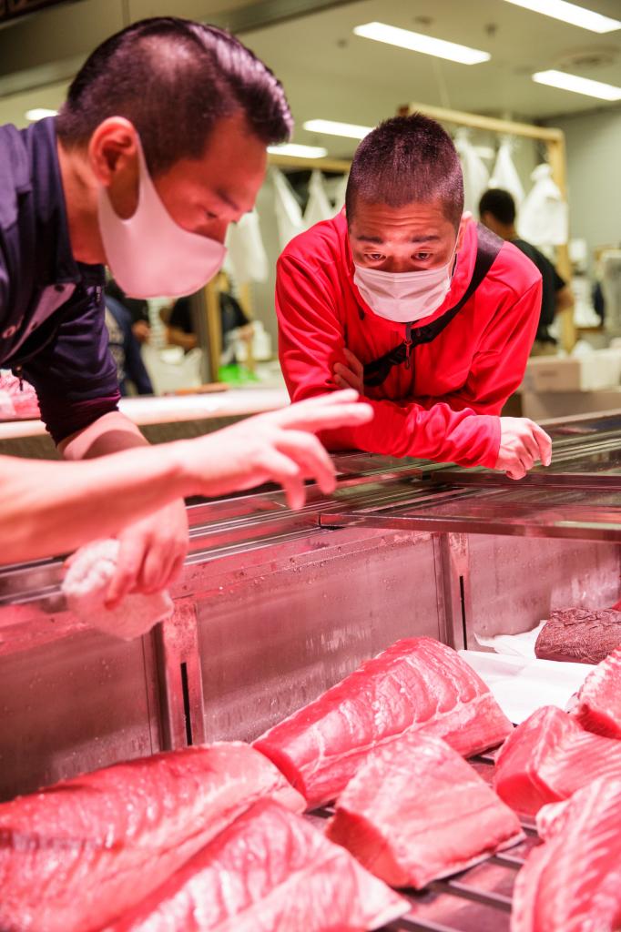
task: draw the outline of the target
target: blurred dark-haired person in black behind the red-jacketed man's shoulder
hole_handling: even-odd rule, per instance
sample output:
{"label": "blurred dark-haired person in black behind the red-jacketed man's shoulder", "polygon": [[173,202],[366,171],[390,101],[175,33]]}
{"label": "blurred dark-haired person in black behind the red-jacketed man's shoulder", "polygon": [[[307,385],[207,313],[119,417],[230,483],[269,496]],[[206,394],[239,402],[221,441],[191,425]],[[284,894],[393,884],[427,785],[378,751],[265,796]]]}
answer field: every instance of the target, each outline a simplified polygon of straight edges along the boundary
{"label": "blurred dark-haired person in black behind the red-jacketed man's shoulder", "polygon": [[549,333],[548,327],[560,310],[573,308],[572,289],[536,246],[517,236],[516,202],[508,191],[500,187],[491,187],[479,201],[478,215],[481,223],[496,236],[517,246],[517,249],[527,255],[539,269],[542,277],[541,309],[531,351],[533,355],[556,352],[557,341]]}

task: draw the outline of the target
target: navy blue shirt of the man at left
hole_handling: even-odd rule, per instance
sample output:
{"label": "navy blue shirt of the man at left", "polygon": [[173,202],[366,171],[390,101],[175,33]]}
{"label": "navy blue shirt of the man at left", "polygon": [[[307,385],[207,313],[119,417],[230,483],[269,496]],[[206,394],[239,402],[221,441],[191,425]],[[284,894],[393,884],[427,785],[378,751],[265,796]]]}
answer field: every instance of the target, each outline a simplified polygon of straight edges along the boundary
{"label": "navy blue shirt of the man at left", "polygon": [[103,287],[71,251],[54,118],[0,127],[0,367],[34,385],[56,443],[117,410]]}

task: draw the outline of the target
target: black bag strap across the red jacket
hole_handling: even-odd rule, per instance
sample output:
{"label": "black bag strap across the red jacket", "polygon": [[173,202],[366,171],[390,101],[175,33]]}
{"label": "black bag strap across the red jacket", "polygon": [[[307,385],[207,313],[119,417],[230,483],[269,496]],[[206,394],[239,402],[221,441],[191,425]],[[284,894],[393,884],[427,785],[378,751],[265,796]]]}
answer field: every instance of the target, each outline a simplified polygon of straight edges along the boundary
{"label": "black bag strap across the red jacket", "polygon": [[406,328],[407,338],[405,340],[402,340],[394,349],[384,353],[379,359],[365,364],[364,379],[366,386],[375,388],[381,385],[394,365],[406,363],[407,367],[409,367],[412,350],[417,346],[421,346],[423,343],[431,343],[435,340],[436,336],[439,336],[442,331],[449,326],[449,323],[457,317],[463,305],[474,295],[481,281],[483,281],[490,271],[494,259],[500,253],[502,245],[503,240],[497,237],[495,233],[492,233],[487,226],[483,226],[482,224],[476,225],[475,268],[472,273],[470,284],[463,293],[462,298],[453,308],[450,308],[442,317],[438,317],[438,319],[432,323],[426,323],[422,327],[413,327],[411,323],[408,323]]}

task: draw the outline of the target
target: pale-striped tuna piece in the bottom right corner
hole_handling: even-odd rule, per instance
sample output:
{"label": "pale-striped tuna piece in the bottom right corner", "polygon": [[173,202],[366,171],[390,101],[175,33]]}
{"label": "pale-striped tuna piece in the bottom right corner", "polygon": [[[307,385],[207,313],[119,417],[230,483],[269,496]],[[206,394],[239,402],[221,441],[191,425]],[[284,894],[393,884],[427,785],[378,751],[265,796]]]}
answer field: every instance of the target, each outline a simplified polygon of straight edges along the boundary
{"label": "pale-striped tuna piece in the bottom right corner", "polygon": [[544,806],[517,875],[511,932],[613,932],[621,924],[621,781]]}

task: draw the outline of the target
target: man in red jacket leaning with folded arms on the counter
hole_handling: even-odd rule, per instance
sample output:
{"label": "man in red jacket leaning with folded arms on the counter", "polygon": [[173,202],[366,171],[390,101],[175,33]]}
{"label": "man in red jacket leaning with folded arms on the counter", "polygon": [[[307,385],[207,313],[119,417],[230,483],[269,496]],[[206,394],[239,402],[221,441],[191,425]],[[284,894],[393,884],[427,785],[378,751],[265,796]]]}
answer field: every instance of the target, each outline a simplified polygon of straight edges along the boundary
{"label": "man in red jacket leaning with folded arms on the counter", "polygon": [[375,410],[332,432],[358,448],[522,478],[549,465],[547,434],[501,418],[524,375],[541,275],[463,214],[449,135],[413,115],[359,145],[346,210],[292,240],[278,263],[280,358],[292,400],[353,386]]}

